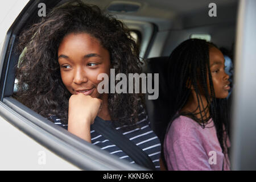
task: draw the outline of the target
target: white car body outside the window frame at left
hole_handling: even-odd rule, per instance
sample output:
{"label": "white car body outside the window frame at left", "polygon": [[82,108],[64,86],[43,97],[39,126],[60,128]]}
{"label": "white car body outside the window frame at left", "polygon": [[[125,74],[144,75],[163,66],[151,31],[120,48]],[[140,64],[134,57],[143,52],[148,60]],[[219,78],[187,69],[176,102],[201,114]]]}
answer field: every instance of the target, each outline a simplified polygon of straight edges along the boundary
{"label": "white car body outside the window frame at left", "polygon": [[[9,0],[0,6],[0,49],[6,33],[28,0]],[[0,116],[0,170],[78,170]]]}

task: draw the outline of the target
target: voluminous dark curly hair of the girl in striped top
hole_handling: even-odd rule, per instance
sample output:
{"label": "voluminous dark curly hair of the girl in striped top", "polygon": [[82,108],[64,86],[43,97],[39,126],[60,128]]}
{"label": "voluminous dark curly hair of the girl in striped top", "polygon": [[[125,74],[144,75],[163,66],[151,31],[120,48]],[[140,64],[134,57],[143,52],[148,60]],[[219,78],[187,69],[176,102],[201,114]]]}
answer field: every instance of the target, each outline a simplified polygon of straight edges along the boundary
{"label": "voluminous dark curly hair of the girl in striped top", "polygon": [[[71,93],[61,80],[57,49],[64,36],[71,32],[85,32],[97,38],[109,51],[110,67],[115,69],[115,74],[125,73],[128,77],[128,73],[142,72],[137,44],[121,21],[81,1],[56,7],[19,37],[18,52],[25,47],[26,51],[16,68],[19,82],[14,98],[46,118],[57,115],[63,123],[68,122]],[[143,98],[143,94],[137,93],[109,93],[108,105],[114,125],[137,122]]]}

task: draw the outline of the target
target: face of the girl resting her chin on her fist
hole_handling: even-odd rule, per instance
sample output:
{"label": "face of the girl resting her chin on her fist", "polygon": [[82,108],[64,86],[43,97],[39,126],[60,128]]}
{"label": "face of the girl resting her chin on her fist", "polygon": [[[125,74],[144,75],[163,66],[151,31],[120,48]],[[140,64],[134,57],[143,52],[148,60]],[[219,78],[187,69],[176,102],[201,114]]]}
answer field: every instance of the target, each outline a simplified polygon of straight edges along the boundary
{"label": "face of the girl resting her chin on her fist", "polygon": [[110,73],[109,51],[98,39],[86,33],[68,34],[58,49],[61,79],[71,94],[80,92],[101,98],[97,80],[100,73]]}

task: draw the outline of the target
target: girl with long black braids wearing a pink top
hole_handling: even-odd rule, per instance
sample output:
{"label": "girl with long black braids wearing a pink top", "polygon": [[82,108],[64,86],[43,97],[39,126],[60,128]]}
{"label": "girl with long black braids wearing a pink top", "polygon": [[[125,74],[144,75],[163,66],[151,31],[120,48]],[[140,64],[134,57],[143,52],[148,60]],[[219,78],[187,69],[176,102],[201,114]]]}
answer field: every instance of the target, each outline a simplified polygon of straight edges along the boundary
{"label": "girl with long black braids wearing a pink top", "polygon": [[189,39],[169,57],[171,122],[164,139],[169,170],[229,170],[228,97],[230,82],[221,51]]}

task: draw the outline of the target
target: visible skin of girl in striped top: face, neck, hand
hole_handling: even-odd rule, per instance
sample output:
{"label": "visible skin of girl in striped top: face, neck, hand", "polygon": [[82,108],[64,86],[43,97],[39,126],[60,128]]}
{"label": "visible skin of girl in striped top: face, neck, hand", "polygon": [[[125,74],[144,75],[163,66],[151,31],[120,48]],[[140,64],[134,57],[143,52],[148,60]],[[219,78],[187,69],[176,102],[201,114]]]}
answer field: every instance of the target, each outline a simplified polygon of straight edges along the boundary
{"label": "visible skin of girl in striped top: face, neck, hand", "polygon": [[[98,39],[86,33],[68,34],[60,43],[58,61],[69,98],[68,131],[91,142],[90,125],[98,115],[111,120],[108,93],[98,93],[100,73],[110,74],[109,51]],[[86,104],[85,104],[86,103]]]}

